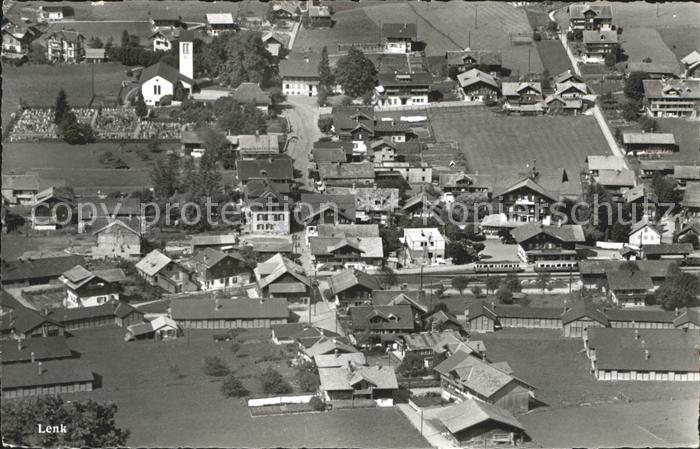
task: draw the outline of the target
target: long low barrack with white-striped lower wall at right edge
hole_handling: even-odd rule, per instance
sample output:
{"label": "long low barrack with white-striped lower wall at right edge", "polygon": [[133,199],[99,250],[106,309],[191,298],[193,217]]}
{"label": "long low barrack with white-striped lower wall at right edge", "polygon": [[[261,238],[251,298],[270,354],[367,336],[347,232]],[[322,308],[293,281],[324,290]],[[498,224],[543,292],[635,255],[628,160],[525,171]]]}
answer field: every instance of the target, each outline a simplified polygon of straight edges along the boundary
{"label": "long low barrack with white-striped lower wall at right edge", "polygon": [[677,329],[589,329],[583,337],[596,380],[697,382],[698,334]]}

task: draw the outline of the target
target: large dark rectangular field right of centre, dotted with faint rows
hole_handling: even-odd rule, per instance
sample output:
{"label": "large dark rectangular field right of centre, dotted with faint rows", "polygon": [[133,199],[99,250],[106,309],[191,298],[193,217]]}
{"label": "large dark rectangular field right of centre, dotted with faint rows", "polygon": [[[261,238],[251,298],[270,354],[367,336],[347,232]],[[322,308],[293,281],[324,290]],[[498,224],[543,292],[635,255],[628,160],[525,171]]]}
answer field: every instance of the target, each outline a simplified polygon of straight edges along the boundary
{"label": "large dark rectangular field right of centre, dotted with faint rows", "polygon": [[496,115],[483,107],[430,109],[437,140],[460,145],[471,172],[498,173],[499,166],[564,167],[578,175],[586,156],[610,154],[591,116],[516,117]]}

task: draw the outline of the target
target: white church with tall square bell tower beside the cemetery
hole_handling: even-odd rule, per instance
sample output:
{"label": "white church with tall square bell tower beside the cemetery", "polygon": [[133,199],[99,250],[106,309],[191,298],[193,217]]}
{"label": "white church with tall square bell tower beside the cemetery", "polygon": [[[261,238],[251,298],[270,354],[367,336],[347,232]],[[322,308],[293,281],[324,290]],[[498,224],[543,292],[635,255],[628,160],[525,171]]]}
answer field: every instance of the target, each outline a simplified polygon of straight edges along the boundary
{"label": "white church with tall square bell tower beside the cemetery", "polygon": [[175,86],[181,83],[192,93],[194,86],[194,54],[191,31],[180,33],[180,70],[163,62],[146,67],[141,72],[139,83],[141,95],[148,106],[159,106],[161,98],[175,93]]}

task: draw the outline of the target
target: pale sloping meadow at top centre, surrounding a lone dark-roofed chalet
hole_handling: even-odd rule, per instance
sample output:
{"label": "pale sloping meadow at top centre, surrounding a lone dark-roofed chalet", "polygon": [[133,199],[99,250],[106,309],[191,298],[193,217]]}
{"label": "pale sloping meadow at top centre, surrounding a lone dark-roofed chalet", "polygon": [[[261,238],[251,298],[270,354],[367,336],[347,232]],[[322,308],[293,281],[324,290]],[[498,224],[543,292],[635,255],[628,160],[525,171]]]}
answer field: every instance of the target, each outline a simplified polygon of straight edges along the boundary
{"label": "pale sloping meadow at top centre, surrounding a lone dark-roofed chalet", "polygon": [[531,72],[542,71],[534,45],[511,44],[511,34],[531,36],[532,29],[525,11],[506,3],[482,2],[478,12],[466,2],[372,4],[338,12],[333,20],[330,30],[300,30],[295,50],[320,51],[326,45],[335,53],[340,42],[377,42],[382,23],[407,22],[418,24],[418,40],[425,44],[427,56],[444,56],[447,50],[470,47],[500,51],[504,67],[513,75],[527,73],[528,66]]}

